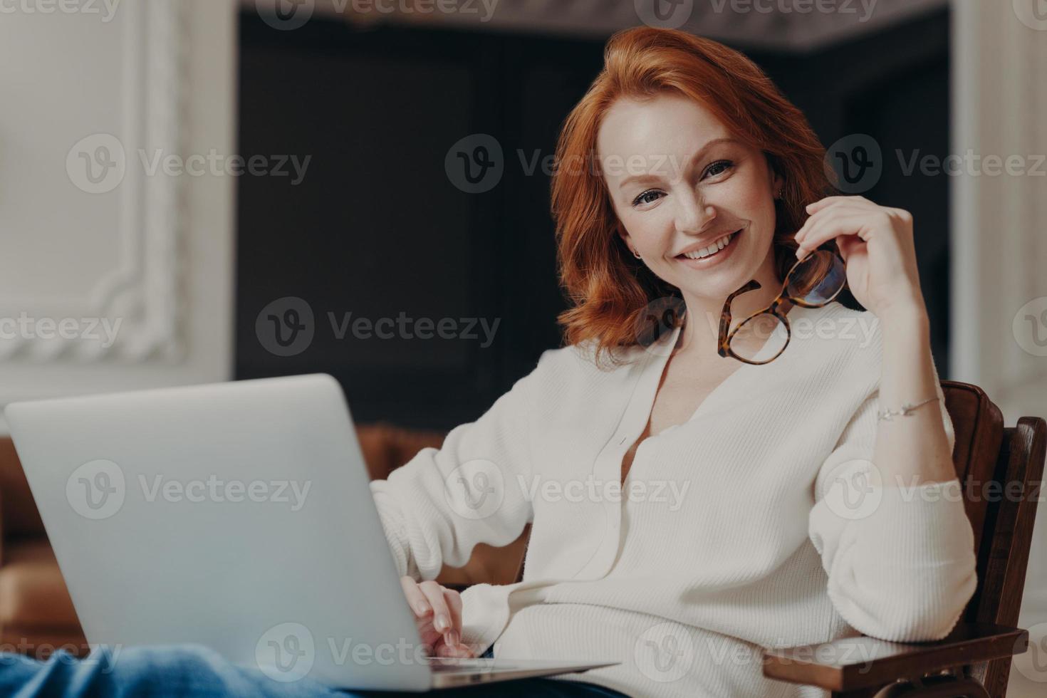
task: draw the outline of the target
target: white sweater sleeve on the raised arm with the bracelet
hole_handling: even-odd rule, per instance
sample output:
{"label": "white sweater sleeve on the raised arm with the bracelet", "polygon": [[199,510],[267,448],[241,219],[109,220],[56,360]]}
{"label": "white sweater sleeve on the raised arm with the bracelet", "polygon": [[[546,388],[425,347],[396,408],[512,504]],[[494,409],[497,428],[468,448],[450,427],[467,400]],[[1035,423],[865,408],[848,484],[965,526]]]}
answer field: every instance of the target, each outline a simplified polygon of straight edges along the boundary
{"label": "white sweater sleeve on the raised arm with the bracelet", "polygon": [[[952,420],[943,399],[935,404],[952,451]],[[828,575],[829,599],[852,628],[894,641],[939,639],[977,586],[974,532],[959,479],[881,482],[871,461],[878,409],[877,387],[822,465],[808,534]]]}

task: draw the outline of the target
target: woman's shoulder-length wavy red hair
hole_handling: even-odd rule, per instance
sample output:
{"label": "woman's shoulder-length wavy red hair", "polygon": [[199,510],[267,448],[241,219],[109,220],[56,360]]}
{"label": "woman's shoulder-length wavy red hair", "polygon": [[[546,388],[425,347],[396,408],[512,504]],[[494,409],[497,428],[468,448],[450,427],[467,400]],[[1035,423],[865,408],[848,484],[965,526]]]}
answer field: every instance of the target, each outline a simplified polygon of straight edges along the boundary
{"label": "woman's shoulder-length wavy red hair", "polygon": [[[636,329],[643,327],[648,306],[681,294],[626,248],[598,163],[563,163],[596,160],[597,133],[615,100],[664,92],[700,103],[735,138],[761,150],[784,179],[772,243],[779,279],[796,263],[793,235],[806,220],[804,206],[833,193],[823,166],[825,149],[806,117],[745,55],[678,29],[616,32],[604,49],[603,69],[564,120],[552,178],[559,278],[573,306],[557,321],[564,344],[589,342],[598,365],[601,355],[617,363],[617,347],[645,343]],[[836,244],[822,247],[834,250]],[[672,327],[681,321],[673,313]]]}

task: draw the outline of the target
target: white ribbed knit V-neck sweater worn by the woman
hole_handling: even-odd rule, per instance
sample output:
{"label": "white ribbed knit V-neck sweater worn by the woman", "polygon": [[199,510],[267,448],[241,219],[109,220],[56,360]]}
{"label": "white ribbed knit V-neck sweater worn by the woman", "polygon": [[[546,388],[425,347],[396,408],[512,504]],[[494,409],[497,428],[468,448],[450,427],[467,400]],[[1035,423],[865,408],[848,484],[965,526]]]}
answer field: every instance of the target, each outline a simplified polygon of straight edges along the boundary
{"label": "white ribbed knit V-neck sweater worn by the woman", "polygon": [[959,482],[845,500],[857,490],[838,476],[872,457],[879,325],[836,301],[788,317],[785,352],[646,438],[621,496],[680,330],[612,370],[544,352],[476,422],[372,483],[400,572],[432,579],[532,522],[524,581],[464,592],[464,640],[621,661],[562,678],[631,696],[823,696],[765,679],[761,649],[945,635],[976,586]]}

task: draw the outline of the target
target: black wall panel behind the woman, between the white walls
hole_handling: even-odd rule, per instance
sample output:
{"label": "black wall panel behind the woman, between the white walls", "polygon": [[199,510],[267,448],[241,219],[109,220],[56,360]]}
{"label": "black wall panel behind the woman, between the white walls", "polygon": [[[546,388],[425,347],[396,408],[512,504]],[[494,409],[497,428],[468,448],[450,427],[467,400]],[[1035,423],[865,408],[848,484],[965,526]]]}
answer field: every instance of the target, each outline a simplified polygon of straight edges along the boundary
{"label": "black wall panel behind the woman, between the white walls", "polygon": [[[851,133],[882,144],[883,175],[865,196],[915,213],[942,378],[948,181],[905,176],[894,151],[945,155],[948,27],[941,12],[810,54],[750,51],[826,145]],[[604,42],[358,31],[317,18],[277,31],[249,12],[240,36],[241,154],[311,159],[297,184],[239,180],[237,378],[330,373],[360,421],[450,428],[475,419],[559,345],[565,305],[542,161],[599,71]],[[478,133],[497,140],[504,170],[495,186],[468,194],[445,156]],[[271,305],[287,296],[298,307]],[[842,300],[855,307],[849,294]],[[287,321],[304,327],[300,313],[287,315],[302,303],[312,339],[285,351],[275,330],[287,339]],[[355,337],[350,324],[338,338],[349,313],[350,323],[386,318],[394,337]],[[423,318],[450,322],[454,338],[419,338]],[[495,328],[489,345],[481,322]],[[469,329],[474,336],[461,337]]]}

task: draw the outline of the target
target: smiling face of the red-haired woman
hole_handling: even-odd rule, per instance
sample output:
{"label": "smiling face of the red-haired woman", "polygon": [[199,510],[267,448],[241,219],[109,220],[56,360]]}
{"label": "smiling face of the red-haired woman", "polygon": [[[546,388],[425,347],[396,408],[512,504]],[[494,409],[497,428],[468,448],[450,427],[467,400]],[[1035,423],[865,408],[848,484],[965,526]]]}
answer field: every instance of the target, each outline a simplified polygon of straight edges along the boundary
{"label": "smiling face of the red-haired woman", "polygon": [[[619,234],[689,309],[718,314],[751,278],[761,296],[777,293],[771,243],[782,180],[712,112],[670,93],[620,98],[600,126],[597,157]],[[710,246],[719,249],[710,255]]]}

